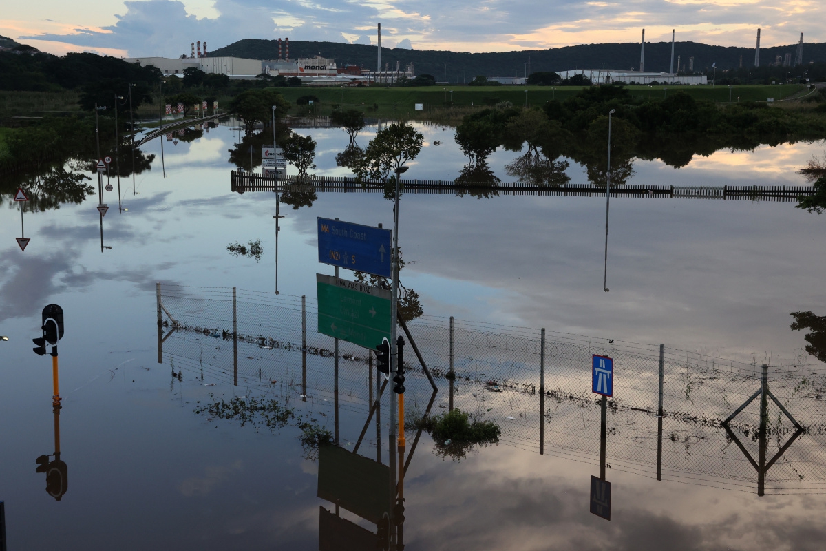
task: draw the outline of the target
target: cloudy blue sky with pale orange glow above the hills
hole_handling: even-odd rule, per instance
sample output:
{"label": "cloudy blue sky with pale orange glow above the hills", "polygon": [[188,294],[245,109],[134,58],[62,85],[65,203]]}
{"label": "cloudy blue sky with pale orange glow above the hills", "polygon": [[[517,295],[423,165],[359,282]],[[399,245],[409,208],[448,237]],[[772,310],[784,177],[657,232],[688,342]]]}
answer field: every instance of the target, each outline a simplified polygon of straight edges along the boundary
{"label": "cloudy blue sky with pale orange glow above the hills", "polygon": [[542,50],[565,45],[694,40],[753,47],[824,41],[820,0],[31,0],[5,2],[0,35],[62,55],[178,57],[244,38],[330,40],[416,50]]}

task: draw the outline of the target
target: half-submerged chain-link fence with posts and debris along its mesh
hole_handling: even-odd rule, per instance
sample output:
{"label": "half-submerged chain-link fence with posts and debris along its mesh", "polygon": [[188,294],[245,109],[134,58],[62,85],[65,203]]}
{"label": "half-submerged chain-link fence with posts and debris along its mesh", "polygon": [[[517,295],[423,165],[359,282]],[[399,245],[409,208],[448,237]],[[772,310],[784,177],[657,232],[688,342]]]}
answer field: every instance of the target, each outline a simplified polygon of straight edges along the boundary
{"label": "half-submerged chain-link fence with posts and debris along its mesh", "polygon": [[[335,344],[317,331],[314,298],[164,285],[158,301],[159,361],[165,356],[173,371],[278,387],[317,404],[334,400]],[[754,492],[762,465],[761,491],[826,491],[824,364],[768,369],[767,388],[794,421],[772,400],[762,417],[755,399],[726,430],[724,420],[762,388],[756,364],[452,318],[407,325],[438,387],[433,413],[453,406],[492,420],[502,444],[599,464],[601,404],[591,392],[597,354],[615,366],[607,468]],[[376,392],[372,354],[339,341],[338,358],[339,408],[366,416]],[[405,363],[406,405],[415,410],[432,389],[410,346]]]}

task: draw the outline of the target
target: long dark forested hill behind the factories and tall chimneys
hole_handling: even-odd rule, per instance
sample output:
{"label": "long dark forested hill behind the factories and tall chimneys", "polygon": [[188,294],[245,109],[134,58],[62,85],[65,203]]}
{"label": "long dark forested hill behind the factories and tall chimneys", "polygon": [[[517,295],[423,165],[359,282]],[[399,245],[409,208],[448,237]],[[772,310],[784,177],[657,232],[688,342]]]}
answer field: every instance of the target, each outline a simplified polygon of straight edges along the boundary
{"label": "long dark forested hill behind the factories and tall chimneys", "polygon": [[[760,50],[761,65],[775,60],[776,55],[785,58],[790,53],[795,58],[797,45],[775,46]],[[356,64],[370,69],[376,66],[376,46],[344,44],[339,42],[309,42],[290,40],[291,57],[312,57],[313,55],[335,58],[336,63]],[[210,52],[210,57],[222,55],[249,59],[275,59],[278,57],[278,40],[239,40]],[[754,64],[754,48],[714,46],[699,42],[676,42],[676,56],[681,56],[680,64],[694,57],[694,69],[702,72],[717,63],[718,69],[739,67],[743,56],[743,68]],[[630,69],[639,68],[639,44],[586,44],[551,48],[548,50],[523,50],[512,52],[491,52],[471,54],[445,50],[402,50],[382,48],[382,63],[396,66],[396,61],[405,67],[413,63],[416,74],[432,74],[437,80],[447,78],[449,82],[461,83],[472,80],[477,74],[488,77],[525,76],[525,65],[530,56],[530,71],[561,71],[565,69]],[[809,61],[826,61],[826,43],[803,45],[804,64]],[[671,42],[647,42],[645,44],[645,69],[667,72],[671,64]]]}

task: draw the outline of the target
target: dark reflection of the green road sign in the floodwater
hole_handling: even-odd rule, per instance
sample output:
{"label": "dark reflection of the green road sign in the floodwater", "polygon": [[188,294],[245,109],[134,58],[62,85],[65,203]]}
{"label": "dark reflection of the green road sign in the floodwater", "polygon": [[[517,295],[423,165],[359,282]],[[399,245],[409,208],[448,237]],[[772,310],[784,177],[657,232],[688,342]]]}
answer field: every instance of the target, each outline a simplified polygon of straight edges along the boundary
{"label": "dark reflection of the green road sign in the floodwater", "polygon": [[318,496],[378,524],[390,512],[390,468],[332,444],[318,449]]}

